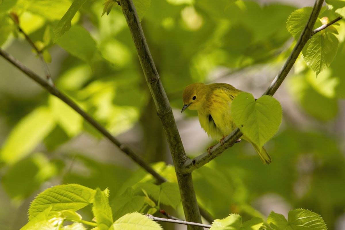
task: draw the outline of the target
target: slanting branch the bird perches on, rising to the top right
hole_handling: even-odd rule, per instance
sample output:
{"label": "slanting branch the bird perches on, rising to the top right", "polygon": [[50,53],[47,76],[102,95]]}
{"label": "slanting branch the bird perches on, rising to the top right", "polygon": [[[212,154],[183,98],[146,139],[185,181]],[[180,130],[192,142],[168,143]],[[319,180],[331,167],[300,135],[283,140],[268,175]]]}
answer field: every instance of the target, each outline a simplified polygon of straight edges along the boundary
{"label": "slanting branch the bird perches on, rising to the top right", "polygon": [[[287,58],[284,66],[279,71],[273,82],[270,84],[270,86],[267,88],[265,93],[263,95],[270,95],[273,96],[273,94],[277,91],[279,86],[284,81],[287,74],[290,72],[291,68],[293,67],[296,59],[299,56],[299,53],[302,51],[303,47],[307,43],[307,41],[312,37],[313,27],[315,25],[316,19],[320,13],[321,7],[323,4],[323,0],[316,0],[313,11],[308,19],[308,22],[304,29],[302,30],[302,33],[300,34],[296,45],[292,52],[290,53],[290,56]],[[334,21],[334,20],[333,20]],[[333,22],[332,21],[332,22]],[[335,22],[335,21],[334,21]],[[333,23],[334,23],[333,22]],[[331,23],[331,22],[330,22]],[[328,23],[327,23],[328,24]],[[325,29],[324,27],[323,29]],[[317,31],[318,32],[318,31]],[[242,133],[239,131],[238,128],[236,128],[231,134],[229,134],[223,141],[224,146],[221,146],[220,143],[216,144],[208,155],[207,152],[204,152],[203,154],[191,159],[187,160],[184,164],[184,168],[182,169],[182,173],[190,173],[193,170],[200,168],[204,164],[210,162],[212,159],[219,156],[224,150],[231,147],[236,143],[236,141],[242,136]]]}

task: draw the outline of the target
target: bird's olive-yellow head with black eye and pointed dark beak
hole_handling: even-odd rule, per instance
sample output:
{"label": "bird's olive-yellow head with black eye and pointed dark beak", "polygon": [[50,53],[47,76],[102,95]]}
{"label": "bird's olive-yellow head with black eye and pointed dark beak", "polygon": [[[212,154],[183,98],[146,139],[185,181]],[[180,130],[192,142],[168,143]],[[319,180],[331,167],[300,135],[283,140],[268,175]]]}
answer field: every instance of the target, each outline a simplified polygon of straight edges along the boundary
{"label": "bird's olive-yellow head with black eye and pointed dark beak", "polygon": [[206,101],[207,87],[203,83],[193,83],[186,87],[182,94],[183,108],[190,110],[200,110]]}

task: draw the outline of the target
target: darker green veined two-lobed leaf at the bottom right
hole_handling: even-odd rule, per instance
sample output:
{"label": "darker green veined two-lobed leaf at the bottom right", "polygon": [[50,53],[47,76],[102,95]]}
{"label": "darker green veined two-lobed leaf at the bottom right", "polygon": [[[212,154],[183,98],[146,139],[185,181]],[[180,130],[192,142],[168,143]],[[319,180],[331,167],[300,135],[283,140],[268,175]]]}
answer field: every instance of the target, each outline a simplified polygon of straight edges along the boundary
{"label": "darker green veined two-lobed leaf at the bottom right", "polygon": [[289,211],[288,220],[282,214],[271,212],[267,218],[267,223],[276,230],[326,230],[324,220],[316,212],[306,209],[294,209]]}

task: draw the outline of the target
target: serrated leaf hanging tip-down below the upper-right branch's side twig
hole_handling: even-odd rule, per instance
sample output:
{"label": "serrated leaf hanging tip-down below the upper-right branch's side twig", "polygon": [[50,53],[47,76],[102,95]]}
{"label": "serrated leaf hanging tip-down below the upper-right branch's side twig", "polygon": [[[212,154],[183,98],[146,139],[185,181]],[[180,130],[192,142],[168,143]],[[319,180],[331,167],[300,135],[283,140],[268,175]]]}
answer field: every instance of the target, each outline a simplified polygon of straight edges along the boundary
{"label": "serrated leaf hanging tip-down below the upper-right branch's side twig", "polygon": [[339,40],[333,33],[316,33],[302,50],[306,65],[316,75],[329,67],[337,54]]}

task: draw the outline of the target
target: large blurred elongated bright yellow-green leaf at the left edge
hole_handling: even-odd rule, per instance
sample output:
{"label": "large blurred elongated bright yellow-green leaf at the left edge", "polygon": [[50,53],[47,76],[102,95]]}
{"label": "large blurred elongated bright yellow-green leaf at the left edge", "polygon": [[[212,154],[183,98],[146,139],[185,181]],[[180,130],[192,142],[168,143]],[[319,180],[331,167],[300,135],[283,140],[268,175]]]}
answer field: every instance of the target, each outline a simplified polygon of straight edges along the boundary
{"label": "large blurred elongated bright yellow-green leaf at the left edge", "polygon": [[38,107],[14,127],[4,142],[0,161],[13,164],[26,157],[54,128],[55,119],[47,107]]}

